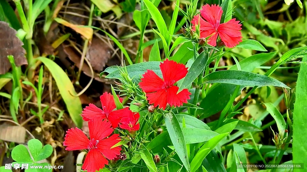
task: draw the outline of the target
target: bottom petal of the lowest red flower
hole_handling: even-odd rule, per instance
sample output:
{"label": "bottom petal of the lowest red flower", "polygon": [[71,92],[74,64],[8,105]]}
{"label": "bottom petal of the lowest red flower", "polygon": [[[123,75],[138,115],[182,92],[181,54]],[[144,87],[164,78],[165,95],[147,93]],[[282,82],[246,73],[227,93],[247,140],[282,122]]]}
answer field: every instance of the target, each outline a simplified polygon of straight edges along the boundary
{"label": "bottom petal of the lowest red flower", "polygon": [[107,159],[97,149],[91,149],[85,157],[82,170],[96,172],[96,170],[102,169],[108,163]]}

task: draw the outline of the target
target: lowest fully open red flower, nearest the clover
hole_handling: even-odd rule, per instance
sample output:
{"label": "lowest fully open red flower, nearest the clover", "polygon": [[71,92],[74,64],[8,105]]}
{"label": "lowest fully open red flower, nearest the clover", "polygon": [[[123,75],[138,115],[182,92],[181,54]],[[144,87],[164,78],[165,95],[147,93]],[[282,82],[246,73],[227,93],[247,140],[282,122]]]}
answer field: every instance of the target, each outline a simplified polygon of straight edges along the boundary
{"label": "lowest fully open red flower, nearest the clover", "polygon": [[106,120],[90,121],[88,122],[88,128],[90,140],[82,130],[76,127],[75,129],[68,129],[63,145],[67,146],[66,150],[68,151],[88,149],[82,169],[88,172],[95,172],[108,164],[107,159],[114,159],[120,155],[122,149],[120,147],[111,148],[120,141],[118,134],[113,134],[106,138],[113,132],[110,122]]}

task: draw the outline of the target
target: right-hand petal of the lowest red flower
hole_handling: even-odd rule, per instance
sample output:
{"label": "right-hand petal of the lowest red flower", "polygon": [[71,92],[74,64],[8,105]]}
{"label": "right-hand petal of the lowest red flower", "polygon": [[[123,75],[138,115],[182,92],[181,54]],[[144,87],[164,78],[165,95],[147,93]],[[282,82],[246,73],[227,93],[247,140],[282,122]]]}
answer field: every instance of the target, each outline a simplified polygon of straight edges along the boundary
{"label": "right-hand petal of the lowest red flower", "polygon": [[116,158],[116,155],[120,155],[120,151],[122,148],[115,147],[112,148],[115,144],[120,142],[120,137],[118,134],[113,134],[111,137],[101,140],[97,144],[97,149],[105,156],[107,159],[114,159]]}

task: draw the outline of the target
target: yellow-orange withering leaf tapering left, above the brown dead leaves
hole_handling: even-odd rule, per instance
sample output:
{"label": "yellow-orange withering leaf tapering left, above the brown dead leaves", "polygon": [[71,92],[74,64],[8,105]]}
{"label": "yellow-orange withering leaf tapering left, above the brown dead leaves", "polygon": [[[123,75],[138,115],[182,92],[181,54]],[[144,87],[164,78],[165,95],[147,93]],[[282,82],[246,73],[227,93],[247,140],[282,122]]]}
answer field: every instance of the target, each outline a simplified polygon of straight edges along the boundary
{"label": "yellow-orange withering leaf tapering left, above the brown dead leaves", "polygon": [[93,37],[94,31],[92,28],[88,28],[85,27],[84,25],[79,25],[79,24],[71,24],[68,21],[65,21],[61,18],[55,18],[54,20],[60,24],[63,24],[64,26],[72,28],[77,33],[80,33],[82,36],[84,36],[85,39],[92,39]]}

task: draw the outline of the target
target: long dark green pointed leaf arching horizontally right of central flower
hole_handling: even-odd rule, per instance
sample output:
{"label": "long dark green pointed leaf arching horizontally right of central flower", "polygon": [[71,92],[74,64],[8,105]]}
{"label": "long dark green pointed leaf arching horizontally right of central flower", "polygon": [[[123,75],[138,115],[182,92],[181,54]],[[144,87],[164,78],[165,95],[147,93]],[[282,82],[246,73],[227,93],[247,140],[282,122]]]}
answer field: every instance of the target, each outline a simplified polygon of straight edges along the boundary
{"label": "long dark green pointed leaf arching horizontally right of central flower", "polygon": [[204,77],[203,83],[223,83],[242,86],[268,86],[289,88],[286,84],[265,75],[240,70],[220,70]]}

